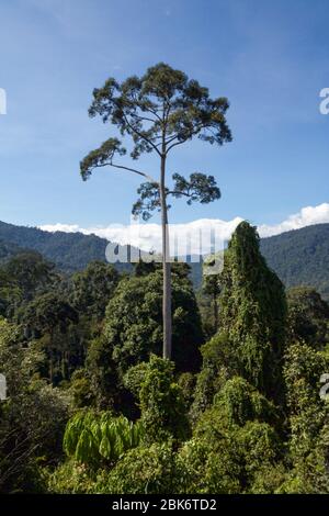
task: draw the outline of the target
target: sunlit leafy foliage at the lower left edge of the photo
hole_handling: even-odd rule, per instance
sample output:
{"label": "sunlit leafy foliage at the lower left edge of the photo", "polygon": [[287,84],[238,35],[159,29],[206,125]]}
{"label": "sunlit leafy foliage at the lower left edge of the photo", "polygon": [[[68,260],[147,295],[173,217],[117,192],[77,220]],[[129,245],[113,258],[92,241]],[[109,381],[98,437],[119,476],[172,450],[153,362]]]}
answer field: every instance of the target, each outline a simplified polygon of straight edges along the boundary
{"label": "sunlit leafy foliage at the lower left edge of the photo", "polygon": [[0,319],[0,364],[8,400],[0,405],[0,492],[37,492],[41,464],[61,457],[70,400],[37,379],[42,357],[23,346],[20,328]]}

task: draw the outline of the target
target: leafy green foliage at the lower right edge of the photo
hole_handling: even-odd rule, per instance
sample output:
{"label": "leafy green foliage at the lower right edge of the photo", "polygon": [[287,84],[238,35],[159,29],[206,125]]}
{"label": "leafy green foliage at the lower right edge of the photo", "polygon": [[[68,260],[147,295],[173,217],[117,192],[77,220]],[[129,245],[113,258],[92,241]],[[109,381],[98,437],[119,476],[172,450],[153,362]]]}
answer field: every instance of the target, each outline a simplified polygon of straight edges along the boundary
{"label": "leafy green foliage at the lower right edge of the photo", "polygon": [[329,405],[320,397],[320,377],[328,356],[305,343],[288,347],[284,377],[287,388],[291,469],[283,493],[329,493]]}

